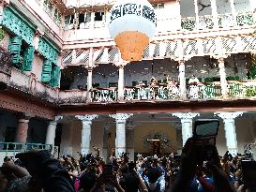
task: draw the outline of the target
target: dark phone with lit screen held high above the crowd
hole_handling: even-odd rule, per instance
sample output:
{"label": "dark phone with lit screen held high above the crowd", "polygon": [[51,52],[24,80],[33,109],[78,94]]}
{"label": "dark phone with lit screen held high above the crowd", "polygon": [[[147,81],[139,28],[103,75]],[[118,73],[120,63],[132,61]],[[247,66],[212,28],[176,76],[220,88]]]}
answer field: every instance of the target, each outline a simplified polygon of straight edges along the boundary
{"label": "dark phone with lit screen held high above the crowd", "polygon": [[218,126],[218,119],[199,119],[194,123],[192,140],[196,146],[196,160],[199,165],[203,161],[212,160]]}

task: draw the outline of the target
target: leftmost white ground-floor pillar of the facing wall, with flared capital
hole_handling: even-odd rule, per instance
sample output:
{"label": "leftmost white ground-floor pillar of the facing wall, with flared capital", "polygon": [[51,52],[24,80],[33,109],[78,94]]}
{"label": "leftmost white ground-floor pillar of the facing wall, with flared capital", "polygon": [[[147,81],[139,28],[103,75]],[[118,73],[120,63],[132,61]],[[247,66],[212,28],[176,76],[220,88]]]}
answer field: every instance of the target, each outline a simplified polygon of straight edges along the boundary
{"label": "leftmost white ground-floor pillar of the facing wall, with flared capital", "polygon": [[98,115],[76,115],[76,118],[82,121],[82,143],[81,143],[81,154],[90,154],[91,147],[91,126],[92,120],[97,118]]}

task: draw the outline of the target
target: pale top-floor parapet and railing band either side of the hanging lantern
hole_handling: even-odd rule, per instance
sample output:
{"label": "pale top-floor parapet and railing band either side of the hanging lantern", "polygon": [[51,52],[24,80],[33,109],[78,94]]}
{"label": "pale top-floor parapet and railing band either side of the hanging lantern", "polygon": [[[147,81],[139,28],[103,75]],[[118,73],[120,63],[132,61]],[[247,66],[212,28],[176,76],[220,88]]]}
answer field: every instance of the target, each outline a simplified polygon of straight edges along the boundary
{"label": "pale top-floor parapet and railing band either side of the hanging lantern", "polygon": [[[226,36],[227,31],[230,35],[236,35],[237,30],[241,30],[240,34],[249,34],[254,25],[255,14],[252,12],[218,15],[217,24],[215,24],[212,15],[200,16],[198,21],[195,17],[181,18],[171,15],[158,15],[155,40],[195,38],[195,33],[198,35],[197,37]],[[104,21],[81,23],[79,30],[75,30],[72,23],[64,28],[67,29],[63,34],[64,50],[74,49],[74,46],[88,48],[114,45],[107,23]],[[91,45],[91,43],[95,43],[95,45]]]}

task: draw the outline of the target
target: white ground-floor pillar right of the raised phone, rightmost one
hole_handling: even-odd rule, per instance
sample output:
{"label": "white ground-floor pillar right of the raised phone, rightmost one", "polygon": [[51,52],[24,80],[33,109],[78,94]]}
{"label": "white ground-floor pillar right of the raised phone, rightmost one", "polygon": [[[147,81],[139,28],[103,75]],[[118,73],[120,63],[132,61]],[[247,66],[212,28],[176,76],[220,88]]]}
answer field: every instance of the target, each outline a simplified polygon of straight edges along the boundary
{"label": "white ground-floor pillar right of the raised phone, rightmost one", "polygon": [[223,119],[226,145],[227,145],[228,151],[230,152],[230,154],[236,155],[238,152],[238,148],[237,148],[234,119],[242,115],[243,112],[219,112],[215,114],[218,115],[218,117],[220,117],[221,119]]}

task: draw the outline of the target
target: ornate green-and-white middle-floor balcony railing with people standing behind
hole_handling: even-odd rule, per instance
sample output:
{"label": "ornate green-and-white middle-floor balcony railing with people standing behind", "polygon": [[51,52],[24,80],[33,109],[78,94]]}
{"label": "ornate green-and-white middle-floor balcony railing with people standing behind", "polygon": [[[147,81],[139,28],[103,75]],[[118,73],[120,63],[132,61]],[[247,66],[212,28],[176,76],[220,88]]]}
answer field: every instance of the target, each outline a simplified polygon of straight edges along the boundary
{"label": "ornate green-and-white middle-floor balcony railing with people standing behind", "polygon": [[[92,89],[92,103],[117,102],[117,88]],[[256,81],[228,81],[227,100],[255,99]],[[187,98],[181,98],[178,86],[159,85],[154,87],[125,87],[125,101],[207,101],[222,100],[220,82],[188,85]]]}

